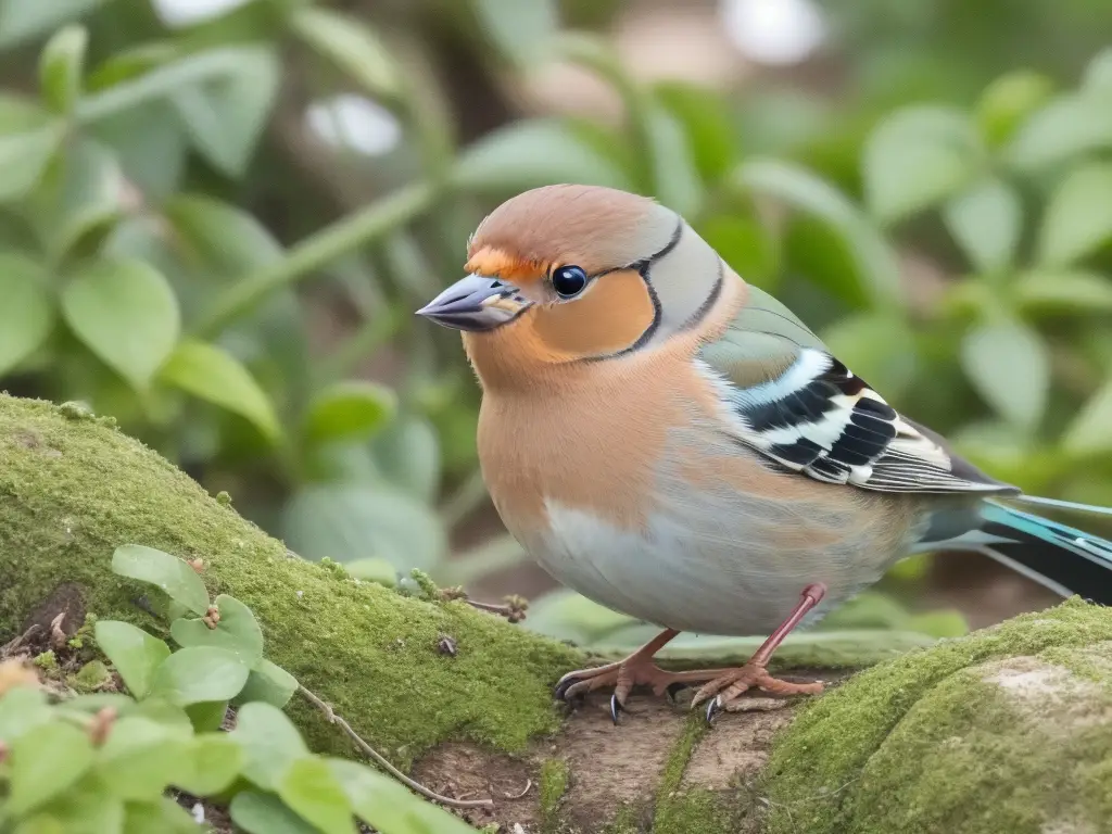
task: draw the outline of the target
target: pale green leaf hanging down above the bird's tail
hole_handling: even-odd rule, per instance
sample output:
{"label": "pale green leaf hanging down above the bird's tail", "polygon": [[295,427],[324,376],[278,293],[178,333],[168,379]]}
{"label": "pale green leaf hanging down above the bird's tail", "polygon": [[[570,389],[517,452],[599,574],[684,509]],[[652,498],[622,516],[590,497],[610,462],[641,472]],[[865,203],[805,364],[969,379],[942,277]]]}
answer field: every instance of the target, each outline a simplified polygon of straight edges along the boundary
{"label": "pale green leaf hanging down above the bird's tail", "polygon": [[1037,332],[1019,321],[980,325],[962,341],[962,367],[985,401],[1031,430],[1046,407],[1050,357]]}

